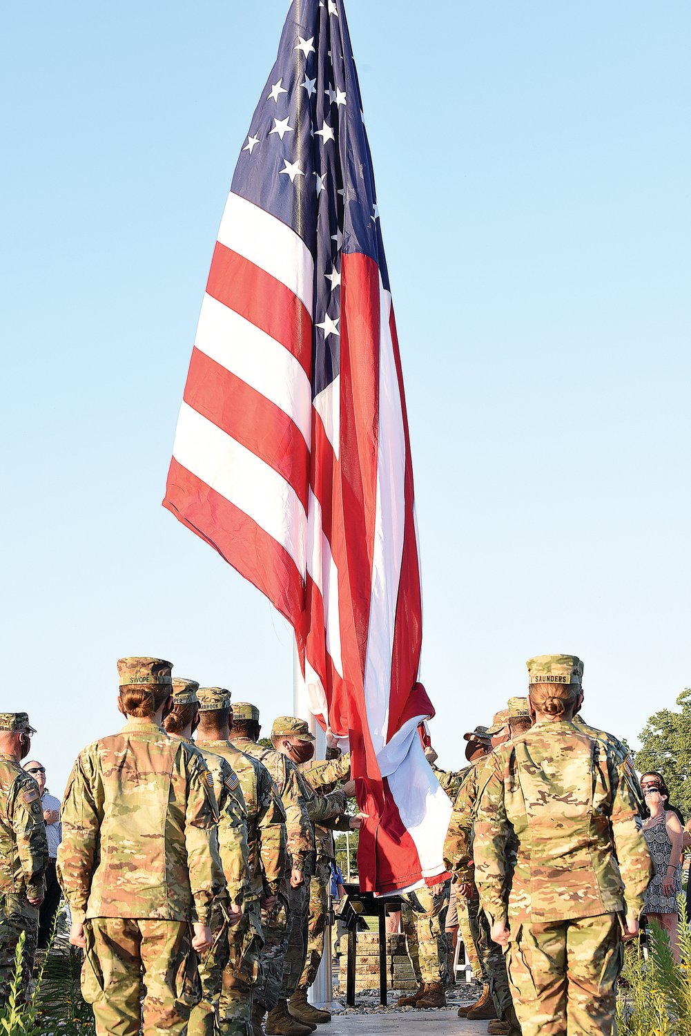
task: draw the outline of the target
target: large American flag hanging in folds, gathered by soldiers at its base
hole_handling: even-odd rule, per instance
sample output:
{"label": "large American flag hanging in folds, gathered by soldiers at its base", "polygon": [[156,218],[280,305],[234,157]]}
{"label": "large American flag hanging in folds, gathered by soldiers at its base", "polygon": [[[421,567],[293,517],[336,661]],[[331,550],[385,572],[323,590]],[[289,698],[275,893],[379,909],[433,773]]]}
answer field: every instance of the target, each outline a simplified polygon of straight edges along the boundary
{"label": "large American flag hanging in folds, gathered by soldiers at its base", "polygon": [[343,0],[294,0],[242,143],[164,506],[292,624],[348,738],[366,890],[433,883],[450,806],[423,754],[410,442]]}

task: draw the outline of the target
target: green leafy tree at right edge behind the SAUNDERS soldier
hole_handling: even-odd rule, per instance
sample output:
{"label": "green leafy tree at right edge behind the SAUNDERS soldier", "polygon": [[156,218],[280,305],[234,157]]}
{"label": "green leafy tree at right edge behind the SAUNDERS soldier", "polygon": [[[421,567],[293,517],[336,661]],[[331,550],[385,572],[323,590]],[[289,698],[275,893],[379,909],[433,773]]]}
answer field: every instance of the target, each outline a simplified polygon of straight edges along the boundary
{"label": "green leafy tree at right edge behind the SAUNDERS soldier", "polygon": [[640,735],[636,770],[659,771],[669,788],[669,798],[687,819],[691,816],[691,688],[676,698],[681,712],[662,709],[654,713]]}

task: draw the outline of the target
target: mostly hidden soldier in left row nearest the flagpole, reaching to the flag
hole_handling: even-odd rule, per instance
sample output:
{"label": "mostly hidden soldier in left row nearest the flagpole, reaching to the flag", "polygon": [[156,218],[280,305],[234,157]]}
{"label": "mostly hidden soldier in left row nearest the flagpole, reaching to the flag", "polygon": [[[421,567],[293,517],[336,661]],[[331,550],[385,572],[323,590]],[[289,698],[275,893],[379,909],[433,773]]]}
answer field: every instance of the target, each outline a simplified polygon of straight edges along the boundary
{"label": "mostly hidden soldier in left row nearest the flagpole, reaching to the flag", "polygon": [[[345,755],[328,745],[325,759],[312,759],[299,764],[299,771],[316,793],[333,792],[340,781],[350,780],[350,752]],[[290,1013],[300,1021],[323,1024],[330,1021],[328,1011],[319,1010],[308,1003],[307,992],[316,980],[319,965],[324,953],[324,932],[328,913],[328,886],[332,880],[332,861],[336,860],[334,831],[352,831],[359,827],[362,814],[357,816],[337,815],[332,819],[314,825],[316,843],[315,870],[310,877],[310,916],[307,940],[307,960],[297,987],[289,1001]]]}

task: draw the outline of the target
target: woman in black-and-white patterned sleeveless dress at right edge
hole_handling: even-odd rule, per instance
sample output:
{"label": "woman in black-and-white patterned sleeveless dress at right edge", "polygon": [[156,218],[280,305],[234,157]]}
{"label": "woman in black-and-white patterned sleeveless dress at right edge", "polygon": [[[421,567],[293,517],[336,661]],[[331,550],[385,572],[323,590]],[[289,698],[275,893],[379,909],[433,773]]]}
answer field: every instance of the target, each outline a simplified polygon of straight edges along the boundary
{"label": "woman in black-and-white patterned sleeveless dress at right edge", "polygon": [[667,933],[674,960],[679,963],[679,900],[682,892],[682,842],[679,817],[668,808],[669,793],[658,774],[643,774],[641,788],[650,816],[643,821],[643,835],[655,865],[655,874],[645,893],[643,913]]}

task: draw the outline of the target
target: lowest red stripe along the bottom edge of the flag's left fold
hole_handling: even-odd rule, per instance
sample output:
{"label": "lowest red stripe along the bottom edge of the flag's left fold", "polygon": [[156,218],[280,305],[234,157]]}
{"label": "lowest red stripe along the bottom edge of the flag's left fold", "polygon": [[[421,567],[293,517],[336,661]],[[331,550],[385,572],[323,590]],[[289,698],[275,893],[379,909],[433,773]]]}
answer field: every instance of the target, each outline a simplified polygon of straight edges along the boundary
{"label": "lowest red stripe along the bottom edge of the flag's left fold", "polygon": [[[163,506],[205,540],[298,626],[305,585],[288,551],[256,521],[173,458]],[[213,530],[213,536],[204,529]]]}

